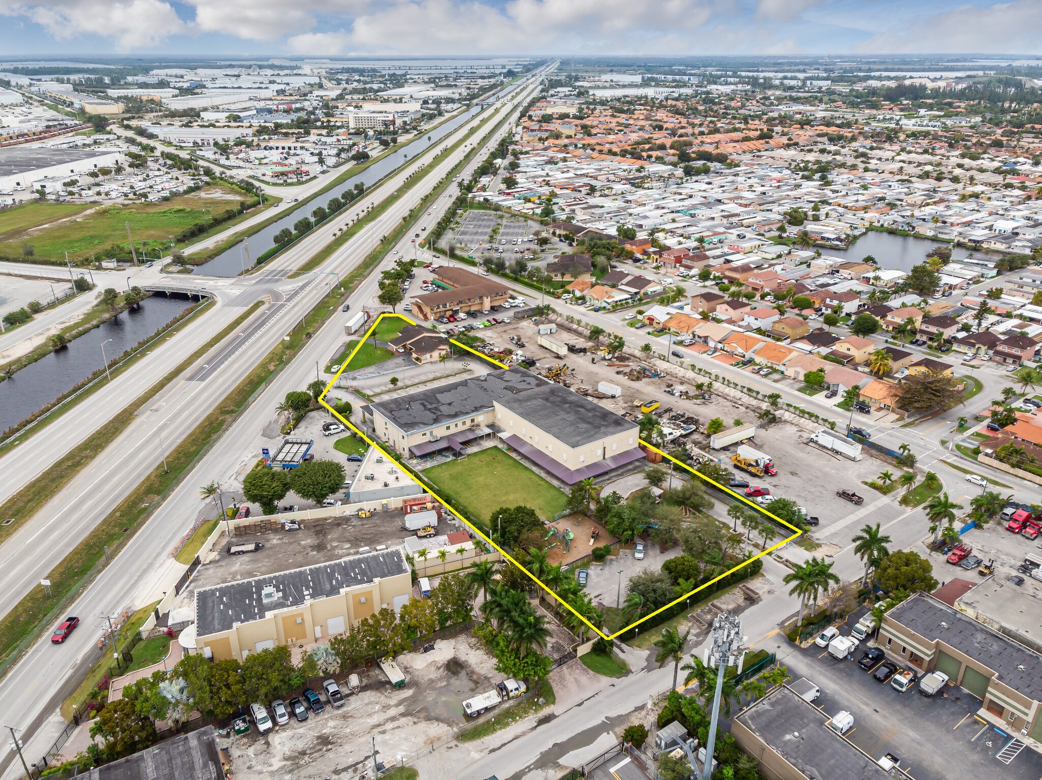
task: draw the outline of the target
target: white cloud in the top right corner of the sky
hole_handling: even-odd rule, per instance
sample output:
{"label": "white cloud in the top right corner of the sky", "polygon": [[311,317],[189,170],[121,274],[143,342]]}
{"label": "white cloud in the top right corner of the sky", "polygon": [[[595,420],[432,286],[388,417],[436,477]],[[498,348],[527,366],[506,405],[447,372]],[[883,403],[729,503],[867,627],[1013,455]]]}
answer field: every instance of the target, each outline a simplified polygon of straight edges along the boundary
{"label": "white cloud in the top right corner of the sky", "polygon": [[1013,0],[991,7],[963,5],[923,17],[913,24],[873,35],[859,52],[1009,52],[1042,51],[1042,2]]}

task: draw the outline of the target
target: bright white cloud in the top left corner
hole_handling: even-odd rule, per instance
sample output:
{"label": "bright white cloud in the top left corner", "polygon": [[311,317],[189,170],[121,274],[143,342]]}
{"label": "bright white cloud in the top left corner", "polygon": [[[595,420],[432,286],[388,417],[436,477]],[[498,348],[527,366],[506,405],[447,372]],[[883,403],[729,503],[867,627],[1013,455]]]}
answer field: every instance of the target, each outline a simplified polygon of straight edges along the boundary
{"label": "bright white cloud in the top left corner", "polygon": [[184,23],[164,0],[50,0],[14,3],[0,0],[0,15],[24,17],[55,41],[82,34],[111,40],[121,51],[141,49],[184,31]]}

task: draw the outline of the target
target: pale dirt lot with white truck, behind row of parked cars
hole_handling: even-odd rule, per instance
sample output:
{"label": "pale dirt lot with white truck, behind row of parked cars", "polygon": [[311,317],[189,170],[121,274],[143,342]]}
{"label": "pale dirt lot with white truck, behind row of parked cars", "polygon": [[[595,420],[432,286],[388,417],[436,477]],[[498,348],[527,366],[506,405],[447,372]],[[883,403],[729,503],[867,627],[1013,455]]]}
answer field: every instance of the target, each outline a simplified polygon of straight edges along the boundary
{"label": "pale dirt lot with white truck, behind row of parked cars", "polygon": [[388,765],[428,753],[465,725],[463,702],[501,679],[495,661],[470,634],[435,643],[430,653],[406,653],[397,662],[406,678],[395,690],[379,669],[362,673],[362,690],[340,709],[326,708],[304,723],[260,735],[255,730],[231,745],[237,780],[354,780],[370,760],[376,737],[378,760]]}

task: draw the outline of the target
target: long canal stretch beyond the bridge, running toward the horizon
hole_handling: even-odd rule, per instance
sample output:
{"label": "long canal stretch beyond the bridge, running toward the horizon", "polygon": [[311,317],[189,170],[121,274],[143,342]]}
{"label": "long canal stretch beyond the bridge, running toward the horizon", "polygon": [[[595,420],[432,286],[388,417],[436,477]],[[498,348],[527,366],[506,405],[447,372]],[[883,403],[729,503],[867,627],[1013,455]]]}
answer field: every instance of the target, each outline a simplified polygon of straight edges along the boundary
{"label": "long canal stretch beyond the bridge, running toward the horizon", "polygon": [[[501,90],[498,93],[498,98],[502,99],[506,95],[510,95],[514,90],[516,90],[518,84],[511,84],[510,86]],[[273,246],[275,246],[275,233],[277,233],[282,228],[289,228],[293,230],[293,223],[299,220],[301,217],[307,216],[312,212],[316,206],[324,206],[326,202],[336,196],[341,196],[349,190],[353,190],[357,182],[362,182],[366,185],[368,190],[381,178],[387,176],[389,173],[394,171],[396,168],[401,166],[406,161],[406,159],[416,157],[421,151],[427,149],[428,147],[437,144],[441,139],[448,135],[450,132],[455,130],[460,125],[464,124],[471,117],[480,110],[479,106],[473,106],[472,108],[464,111],[458,117],[453,117],[449,121],[442,125],[439,125],[432,130],[420,134],[416,140],[412,141],[407,145],[403,146],[401,149],[389,154],[381,160],[374,162],[365,171],[356,176],[352,176],[345,180],[343,183],[330,188],[329,191],[322,193],[315,200],[305,204],[303,208],[300,205],[293,206],[293,210],[287,211],[281,219],[262,228],[250,238],[250,252],[251,258],[256,258],[262,253],[267,252]],[[427,139],[430,141],[427,141]],[[350,169],[348,169],[350,170]],[[329,175],[340,175],[340,171],[330,171]],[[289,201],[293,199],[292,186],[284,187],[286,200],[282,201],[283,205],[290,205]],[[214,259],[198,266],[195,270],[197,274],[205,274],[207,276],[237,276],[242,273],[244,269],[249,267],[249,261],[246,259],[246,252],[243,246],[243,242],[235,244],[234,246],[228,248],[221,254],[219,254]]]}

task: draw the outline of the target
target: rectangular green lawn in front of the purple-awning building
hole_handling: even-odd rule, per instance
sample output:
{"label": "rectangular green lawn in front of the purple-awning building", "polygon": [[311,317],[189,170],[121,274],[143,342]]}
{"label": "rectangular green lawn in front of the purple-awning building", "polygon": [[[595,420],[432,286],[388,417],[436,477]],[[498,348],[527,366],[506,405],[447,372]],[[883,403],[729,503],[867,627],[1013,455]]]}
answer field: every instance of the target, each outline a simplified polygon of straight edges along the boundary
{"label": "rectangular green lawn in front of the purple-awning building", "polygon": [[488,521],[503,506],[530,506],[549,520],[565,508],[568,497],[498,447],[442,463],[423,476],[478,520]]}

